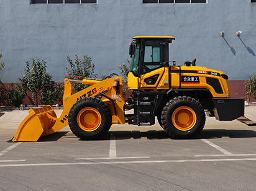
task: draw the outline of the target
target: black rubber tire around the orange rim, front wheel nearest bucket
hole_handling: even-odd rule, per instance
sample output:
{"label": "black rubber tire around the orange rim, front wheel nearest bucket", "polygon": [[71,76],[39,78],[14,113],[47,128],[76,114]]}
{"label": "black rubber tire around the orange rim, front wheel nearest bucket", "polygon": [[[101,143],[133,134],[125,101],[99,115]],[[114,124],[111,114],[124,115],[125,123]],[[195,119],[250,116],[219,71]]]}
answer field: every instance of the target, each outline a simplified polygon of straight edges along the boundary
{"label": "black rubber tire around the orange rim, front wheel nearest bucket", "polygon": [[[96,130],[86,131],[78,125],[78,113],[86,107],[96,109],[101,116],[101,123]],[[111,110],[103,100],[85,97],[75,102],[71,107],[70,113],[68,113],[68,125],[70,130],[81,140],[97,140],[107,133],[112,125]]]}

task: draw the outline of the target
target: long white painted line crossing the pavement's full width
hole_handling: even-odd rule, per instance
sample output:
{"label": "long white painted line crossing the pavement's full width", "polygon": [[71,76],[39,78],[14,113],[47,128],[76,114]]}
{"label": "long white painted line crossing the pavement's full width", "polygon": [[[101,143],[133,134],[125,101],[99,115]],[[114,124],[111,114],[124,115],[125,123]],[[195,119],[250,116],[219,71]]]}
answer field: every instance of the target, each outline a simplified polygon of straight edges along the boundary
{"label": "long white painted line crossing the pavement's full width", "polygon": [[190,159],[190,160],[163,160],[163,161],[109,161],[109,162],[61,162],[35,164],[0,164],[0,167],[27,167],[27,166],[71,166],[93,164],[150,164],[150,163],[179,163],[179,162],[226,162],[226,161],[256,161],[256,158],[240,159]]}

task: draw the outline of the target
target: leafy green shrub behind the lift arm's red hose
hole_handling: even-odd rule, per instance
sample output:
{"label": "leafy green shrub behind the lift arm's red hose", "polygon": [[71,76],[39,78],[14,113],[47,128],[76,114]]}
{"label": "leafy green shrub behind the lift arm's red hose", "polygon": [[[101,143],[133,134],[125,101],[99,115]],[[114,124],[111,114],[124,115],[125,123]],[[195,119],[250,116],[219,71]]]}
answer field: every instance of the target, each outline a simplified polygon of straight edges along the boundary
{"label": "leafy green shrub behind the lift arm's red hose", "polygon": [[[70,59],[70,56],[66,56],[70,68],[66,68],[67,74],[70,75],[70,79],[82,80],[85,78],[96,78],[94,74],[95,64],[91,63],[91,57],[84,55],[83,59],[79,59],[78,55],[75,55],[75,63]],[[72,77],[72,76],[81,76],[81,77]],[[79,92],[82,89],[88,87],[86,84],[81,83],[72,83],[72,89],[74,92]]]}

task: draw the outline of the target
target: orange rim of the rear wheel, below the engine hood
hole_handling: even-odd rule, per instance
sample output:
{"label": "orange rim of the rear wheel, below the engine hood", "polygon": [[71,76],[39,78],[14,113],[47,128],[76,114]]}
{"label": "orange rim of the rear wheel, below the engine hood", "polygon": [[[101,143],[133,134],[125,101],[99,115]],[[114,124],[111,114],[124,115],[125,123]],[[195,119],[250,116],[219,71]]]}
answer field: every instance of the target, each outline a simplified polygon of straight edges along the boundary
{"label": "orange rim of the rear wheel, below the engine hood", "polygon": [[196,124],[196,113],[186,106],[178,107],[171,117],[173,125],[180,131],[188,131]]}

